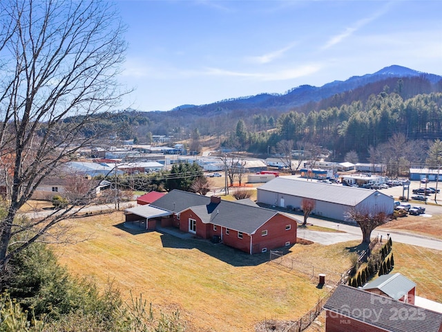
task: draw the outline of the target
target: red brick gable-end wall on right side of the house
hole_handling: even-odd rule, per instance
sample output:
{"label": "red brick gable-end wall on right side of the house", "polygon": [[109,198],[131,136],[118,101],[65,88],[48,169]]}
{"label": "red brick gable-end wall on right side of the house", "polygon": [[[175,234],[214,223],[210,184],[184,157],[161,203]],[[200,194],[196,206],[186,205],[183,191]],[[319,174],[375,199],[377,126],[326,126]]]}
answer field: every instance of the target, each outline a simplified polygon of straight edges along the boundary
{"label": "red brick gable-end wall on right side of the house", "polygon": [[[285,230],[286,225],[290,225],[290,230]],[[286,242],[290,242],[290,245],[295,244],[297,227],[295,220],[283,214],[276,214],[253,234],[253,254],[261,252],[262,248],[271,250],[283,247]],[[264,237],[262,230],[267,230]]]}

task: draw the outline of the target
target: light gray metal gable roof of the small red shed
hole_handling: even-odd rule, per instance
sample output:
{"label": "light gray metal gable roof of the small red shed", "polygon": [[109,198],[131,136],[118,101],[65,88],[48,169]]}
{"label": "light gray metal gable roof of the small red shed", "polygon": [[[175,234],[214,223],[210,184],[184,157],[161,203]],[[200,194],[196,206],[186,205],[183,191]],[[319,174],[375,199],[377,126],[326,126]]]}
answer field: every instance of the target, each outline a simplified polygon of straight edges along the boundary
{"label": "light gray metal gable roof of the small red shed", "polygon": [[400,299],[414,287],[416,287],[416,284],[410,279],[407,279],[401,275],[401,273],[395,273],[394,275],[381,275],[377,279],[363,286],[362,289],[368,290],[376,288],[392,299]]}

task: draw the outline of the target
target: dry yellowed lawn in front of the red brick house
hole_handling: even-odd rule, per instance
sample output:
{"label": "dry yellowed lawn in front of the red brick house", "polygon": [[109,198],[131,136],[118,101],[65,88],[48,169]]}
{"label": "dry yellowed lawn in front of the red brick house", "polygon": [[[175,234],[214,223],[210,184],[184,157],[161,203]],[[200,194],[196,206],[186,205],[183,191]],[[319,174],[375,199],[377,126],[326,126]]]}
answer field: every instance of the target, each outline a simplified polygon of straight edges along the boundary
{"label": "dry yellowed lawn in front of the red brick house", "polygon": [[[116,227],[122,219],[122,213],[75,219],[76,236],[90,239],[55,247],[61,264],[102,286],[115,280],[126,298],[129,291],[142,293],[155,308],[179,308],[191,331],[253,331],[265,319],[296,320],[327,292],[304,275],[268,264],[268,254],[128,232]],[[300,247],[291,248],[294,255]]]}

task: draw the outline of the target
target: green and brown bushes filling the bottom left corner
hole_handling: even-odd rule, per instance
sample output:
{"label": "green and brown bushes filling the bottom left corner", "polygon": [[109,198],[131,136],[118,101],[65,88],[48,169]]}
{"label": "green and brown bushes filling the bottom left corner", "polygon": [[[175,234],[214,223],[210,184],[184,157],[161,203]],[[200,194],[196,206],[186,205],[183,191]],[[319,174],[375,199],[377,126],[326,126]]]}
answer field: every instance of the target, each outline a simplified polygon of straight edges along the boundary
{"label": "green and brown bushes filling the bottom left corner", "polygon": [[19,252],[8,265],[0,295],[0,331],[185,331],[179,311],[154,315],[142,297],[126,304],[112,282],[71,277],[43,244]]}

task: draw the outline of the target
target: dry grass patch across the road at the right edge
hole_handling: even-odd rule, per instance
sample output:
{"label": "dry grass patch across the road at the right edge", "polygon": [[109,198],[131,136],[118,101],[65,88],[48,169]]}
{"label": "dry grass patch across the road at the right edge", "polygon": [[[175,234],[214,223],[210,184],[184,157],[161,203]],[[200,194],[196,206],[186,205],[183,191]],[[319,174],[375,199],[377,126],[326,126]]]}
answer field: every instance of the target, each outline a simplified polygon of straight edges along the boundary
{"label": "dry grass patch across the road at the right edge", "polygon": [[390,230],[403,230],[405,232],[421,234],[442,239],[442,215],[431,217],[406,216],[392,220],[379,228]]}

